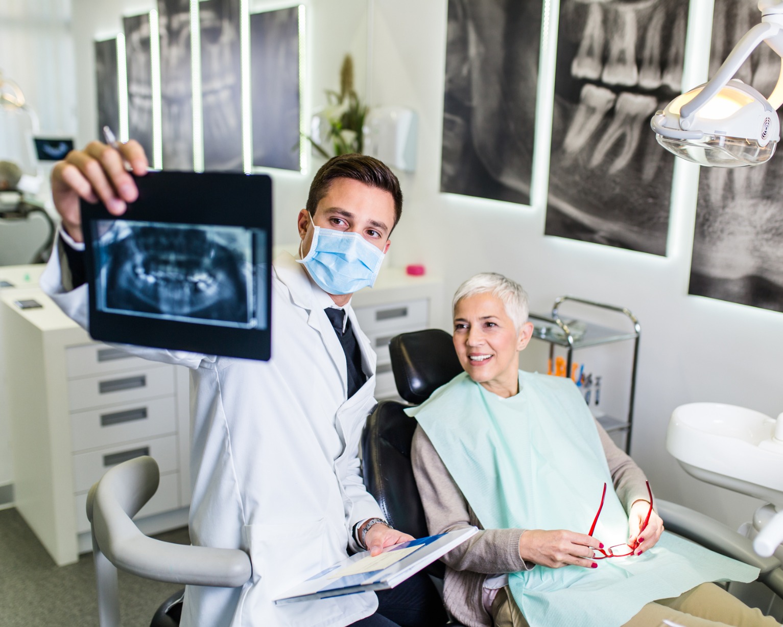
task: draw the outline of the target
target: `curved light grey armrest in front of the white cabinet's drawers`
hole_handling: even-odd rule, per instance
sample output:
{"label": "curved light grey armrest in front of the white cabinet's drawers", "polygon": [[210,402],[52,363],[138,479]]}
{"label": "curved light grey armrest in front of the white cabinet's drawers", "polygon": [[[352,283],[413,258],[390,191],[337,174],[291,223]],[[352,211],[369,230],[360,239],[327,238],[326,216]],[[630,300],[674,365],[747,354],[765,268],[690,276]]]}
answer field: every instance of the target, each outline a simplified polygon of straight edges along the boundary
{"label": "curved light grey armrest in front of the white cabinet's drawers", "polygon": [[88,517],[101,552],[117,568],[159,582],[236,587],[251,578],[240,549],[214,549],[148,538],[131,520],[157,490],[157,463],[138,457],[110,469],[88,496]]}

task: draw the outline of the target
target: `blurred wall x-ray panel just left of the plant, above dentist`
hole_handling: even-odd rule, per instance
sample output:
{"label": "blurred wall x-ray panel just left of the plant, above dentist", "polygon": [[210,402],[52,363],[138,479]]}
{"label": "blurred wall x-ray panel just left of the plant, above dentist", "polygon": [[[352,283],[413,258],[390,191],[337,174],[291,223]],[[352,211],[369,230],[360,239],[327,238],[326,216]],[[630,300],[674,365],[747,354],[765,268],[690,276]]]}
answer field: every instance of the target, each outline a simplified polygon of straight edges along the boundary
{"label": "blurred wall x-ray panel just left of the plant, above dentist", "polygon": [[253,165],[299,169],[299,12],[250,16]]}

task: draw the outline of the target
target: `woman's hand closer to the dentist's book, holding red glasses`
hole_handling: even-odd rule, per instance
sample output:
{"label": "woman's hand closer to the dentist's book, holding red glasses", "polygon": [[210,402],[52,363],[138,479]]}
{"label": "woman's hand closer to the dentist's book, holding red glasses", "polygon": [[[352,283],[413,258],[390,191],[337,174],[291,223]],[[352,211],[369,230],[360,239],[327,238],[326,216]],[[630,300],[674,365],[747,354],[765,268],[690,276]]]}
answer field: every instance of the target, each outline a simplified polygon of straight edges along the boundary
{"label": "woman's hand closer to the dentist's book, holding red glasses", "polygon": [[595,568],[598,564],[592,560],[593,549],[603,548],[593,536],[565,529],[528,529],[519,538],[519,555],[523,560],[550,568],[568,565]]}

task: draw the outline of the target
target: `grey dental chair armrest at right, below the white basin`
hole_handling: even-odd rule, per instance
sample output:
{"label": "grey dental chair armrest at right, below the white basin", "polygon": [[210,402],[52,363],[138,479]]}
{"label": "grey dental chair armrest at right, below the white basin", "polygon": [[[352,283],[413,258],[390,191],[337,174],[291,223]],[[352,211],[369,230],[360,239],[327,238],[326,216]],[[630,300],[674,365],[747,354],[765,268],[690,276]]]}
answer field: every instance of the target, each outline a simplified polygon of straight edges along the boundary
{"label": "grey dental chair armrest at right, below the white basin", "polygon": [[753,551],[753,543],[744,535],[694,509],[663,501],[660,498],[655,501],[655,509],[658,510],[664,526],[669,531],[716,553],[755,566],[760,569],[762,575],[774,571],[781,565],[776,557],[756,555]]}

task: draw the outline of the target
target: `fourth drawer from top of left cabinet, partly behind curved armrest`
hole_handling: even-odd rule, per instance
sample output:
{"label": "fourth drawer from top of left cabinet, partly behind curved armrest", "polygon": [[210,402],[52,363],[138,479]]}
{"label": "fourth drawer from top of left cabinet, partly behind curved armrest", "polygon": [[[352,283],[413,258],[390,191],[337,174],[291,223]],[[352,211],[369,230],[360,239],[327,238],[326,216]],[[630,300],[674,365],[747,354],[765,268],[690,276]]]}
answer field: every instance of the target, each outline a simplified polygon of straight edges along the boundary
{"label": "fourth drawer from top of left cabinet, partly behind curved armrest", "polygon": [[92,484],[103,477],[106,470],[141,455],[150,455],[154,458],[161,473],[170,473],[179,469],[176,436],[138,440],[121,446],[74,455],[74,491],[89,490]]}

